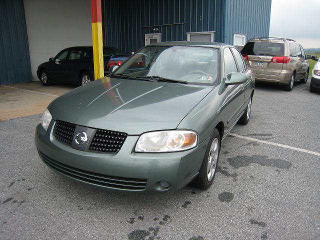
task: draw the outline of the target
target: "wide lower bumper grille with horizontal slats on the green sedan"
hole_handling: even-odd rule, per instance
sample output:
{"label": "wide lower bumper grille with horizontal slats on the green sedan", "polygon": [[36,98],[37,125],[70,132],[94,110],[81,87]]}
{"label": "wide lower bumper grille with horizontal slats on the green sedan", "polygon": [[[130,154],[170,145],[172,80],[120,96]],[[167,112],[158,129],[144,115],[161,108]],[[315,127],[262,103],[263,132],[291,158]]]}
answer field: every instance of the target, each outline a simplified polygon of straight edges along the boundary
{"label": "wide lower bumper grille with horizontal slats on the green sedan", "polygon": [[73,177],[86,183],[124,190],[143,190],[146,185],[146,179],[108,176],[95,172],[85,171],[60,163],[44,155],[42,152],[38,152],[43,162],[52,169],[66,176]]}

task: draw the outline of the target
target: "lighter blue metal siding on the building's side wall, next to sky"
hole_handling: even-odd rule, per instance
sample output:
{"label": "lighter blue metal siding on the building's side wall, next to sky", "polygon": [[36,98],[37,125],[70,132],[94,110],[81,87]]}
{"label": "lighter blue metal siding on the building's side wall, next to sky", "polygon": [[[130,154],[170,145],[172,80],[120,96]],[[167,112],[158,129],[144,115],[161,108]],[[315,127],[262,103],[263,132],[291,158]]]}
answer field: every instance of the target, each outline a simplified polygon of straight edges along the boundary
{"label": "lighter blue metal siding on the building's side wall, next to sky", "polygon": [[233,44],[233,33],[268,36],[271,0],[226,0],[225,23],[222,41]]}

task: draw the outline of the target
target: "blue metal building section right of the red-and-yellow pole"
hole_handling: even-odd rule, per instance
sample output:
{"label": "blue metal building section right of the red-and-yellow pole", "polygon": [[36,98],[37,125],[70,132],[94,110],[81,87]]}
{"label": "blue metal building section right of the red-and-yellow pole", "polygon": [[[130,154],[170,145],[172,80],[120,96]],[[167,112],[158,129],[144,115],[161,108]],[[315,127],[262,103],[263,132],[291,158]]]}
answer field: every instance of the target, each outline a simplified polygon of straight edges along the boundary
{"label": "blue metal building section right of the red-and-yellow pole", "polygon": [[268,36],[271,0],[102,0],[104,44],[136,51],[156,41],[244,45]]}

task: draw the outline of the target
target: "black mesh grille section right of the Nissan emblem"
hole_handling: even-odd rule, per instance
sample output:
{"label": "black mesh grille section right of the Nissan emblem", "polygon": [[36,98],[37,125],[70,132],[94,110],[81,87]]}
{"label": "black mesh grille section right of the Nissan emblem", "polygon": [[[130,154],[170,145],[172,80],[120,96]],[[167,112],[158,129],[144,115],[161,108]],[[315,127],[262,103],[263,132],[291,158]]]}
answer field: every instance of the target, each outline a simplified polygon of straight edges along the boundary
{"label": "black mesh grille section right of the Nissan emblem", "polygon": [[125,132],[96,129],[89,151],[118,152],[126,136]]}

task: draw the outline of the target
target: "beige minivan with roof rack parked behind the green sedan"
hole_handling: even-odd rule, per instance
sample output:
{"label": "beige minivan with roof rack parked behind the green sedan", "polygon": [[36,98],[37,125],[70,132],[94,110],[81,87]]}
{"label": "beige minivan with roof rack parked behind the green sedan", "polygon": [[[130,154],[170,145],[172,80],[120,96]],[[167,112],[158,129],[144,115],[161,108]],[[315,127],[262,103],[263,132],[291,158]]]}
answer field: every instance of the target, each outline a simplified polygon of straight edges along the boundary
{"label": "beige minivan with roof rack parked behind the green sedan", "polygon": [[295,81],[306,83],[310,55],[292,39],[280,37],[252,37],[241,54],[253,69],[255,80],[283,85],[291,91]]}

